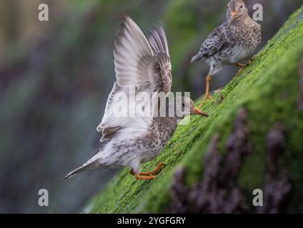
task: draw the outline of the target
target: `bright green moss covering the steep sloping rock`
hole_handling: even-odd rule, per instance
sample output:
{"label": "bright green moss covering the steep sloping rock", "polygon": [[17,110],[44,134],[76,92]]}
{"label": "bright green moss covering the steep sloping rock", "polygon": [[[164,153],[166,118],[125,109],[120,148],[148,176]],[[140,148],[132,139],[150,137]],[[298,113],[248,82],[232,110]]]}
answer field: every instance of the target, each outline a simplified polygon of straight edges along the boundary
{"label": "bright green moss covering the steep sloping rock", "polygon": [[[188,125],[180,125],[157,159],[142,165],[153,170],[165,163],[152,181],[136,181],[129,170],[122,170],[106,190],[86,205],[90,213],[165,212],[169,204],[169,186],[180,165],[187,169],[187,185],[202,176],[202,161],[209,140],[220,133],[222,153],[240,107],[249,113],[249,140],[252,153],[244,161],[238,183],[246,192],[264,184],[266,135],[277,121],[283,123],[287,135],[287,152],[282,168],[292,182],[292,199],[288,212],[297,212],[303,197],[303,112],[297,108],[299,96],[299,63],[303,56],[303,7],[296,11],[253,63],[219,93],[216,102],[207,102],[204,111],[209,118],[191,117]],[[174,68],[174,66],[172,66]],[[223,100],[221,98],[224,98]]]}

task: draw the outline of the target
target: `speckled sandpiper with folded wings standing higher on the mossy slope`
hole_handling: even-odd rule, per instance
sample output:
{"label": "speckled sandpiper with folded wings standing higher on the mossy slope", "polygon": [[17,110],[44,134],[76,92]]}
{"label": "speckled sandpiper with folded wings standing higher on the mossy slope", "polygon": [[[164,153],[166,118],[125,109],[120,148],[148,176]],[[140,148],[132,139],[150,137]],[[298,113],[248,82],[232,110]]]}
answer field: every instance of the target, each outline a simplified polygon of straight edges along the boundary
{"label": "speckled sandpiper with folded wings standing higher on the mossy slope", "polygon": [[204,60],[210,66],[206,78],[206,92],[199,108],[209,95],[209,83],[212,76],[219,72],[224,65],[236,64],[244,68],[247,64],[239,63],[250,56],[261,42],[261,26],[248,14],[247,7],[242,0],[231,0],[227,7],[227,21],[212,31],[192,62]]}

